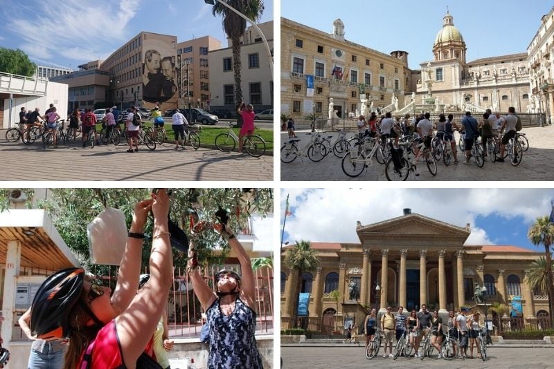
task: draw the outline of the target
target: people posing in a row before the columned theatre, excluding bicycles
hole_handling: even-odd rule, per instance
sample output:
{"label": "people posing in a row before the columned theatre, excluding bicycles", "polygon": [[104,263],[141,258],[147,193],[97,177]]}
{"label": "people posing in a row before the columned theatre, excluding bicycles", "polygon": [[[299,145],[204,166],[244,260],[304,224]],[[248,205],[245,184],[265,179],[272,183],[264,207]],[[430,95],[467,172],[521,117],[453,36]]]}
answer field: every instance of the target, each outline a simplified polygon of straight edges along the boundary
{"label": "people posing in a row before the columned theatre, excluding bicycles", "polygon": [[[377,310],[373,308],[368,310],[369,314],[364,321],[364,334],[366,336],[366,351],[373,350],[370,342],[375,339],[376,334],[382,335],[384,341],[384,359],[393,357],[393,338],[396,341],[402,337],[409,337],[409,345],[413,348],[411,357],[421,357],[425,352],[420,350],[422,341],[430,334],[430,343],[438,352],[436,358],[443,358],[441,346],[445,337],[456,339],[459,342],[461,352],[459,357],[473,359],[474,348],[476,348],[477,357],[481,359],[481,350],[479,346],[479,332],[481,331],[481,323],[479,322],[479,312],[474,312],[471,316],[468,308],[461,308],[459,312],[450,310],[446,323],[443,323],[443,318],[438,314],[438,310],[432,313],[427,310],[427,305],[422,304],[421,310],[412,309],[409,316],[403,314],[404,308],[400,306],[397,309],[397,314],[393,314],[390,306],[386,308],[386,312],[377,319]],[[369,348],[368,348],[369,346]],[[470,348],[470,354],[467,354],[467,348]],[[388,353],[387,353],[388,352]],[[368,356],[366,354],[366,356]],[[369,357],[373,357],[370,355]]]}

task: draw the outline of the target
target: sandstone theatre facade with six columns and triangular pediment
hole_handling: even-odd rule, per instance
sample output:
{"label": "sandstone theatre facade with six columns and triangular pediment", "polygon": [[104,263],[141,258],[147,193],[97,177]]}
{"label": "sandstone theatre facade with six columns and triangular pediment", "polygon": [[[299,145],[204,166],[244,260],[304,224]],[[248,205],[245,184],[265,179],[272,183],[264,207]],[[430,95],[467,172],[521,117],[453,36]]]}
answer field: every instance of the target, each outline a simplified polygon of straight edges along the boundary
{"label": "sandstone theatre facade with six columns and triangular pediment", "polygon": [[[427,303],[441,314],[461,306],[483,312],[485,305],[474,301],[476,284],[485,285],[488,305],[510,305],[520,296],[521,313],[528,323],[548,316],[546,296],[535,294],[525,278],[530,263],[542,255],[540,249],[465,245],[470,225],[458,227],[410,209],[379,223],[358,222],[356,231],[360,243],[312,243],[320,265],[314,273],[301,276],[301,292],[310,293],[309,316],[304,321],[311,330],[357,326],[366,308],[384,312],[387,306],[419,309]],[[288,328],[296,274],[281,265],[281,317],[283,328]],[[333,290],[340,292],[338,301],[331,297]]]}

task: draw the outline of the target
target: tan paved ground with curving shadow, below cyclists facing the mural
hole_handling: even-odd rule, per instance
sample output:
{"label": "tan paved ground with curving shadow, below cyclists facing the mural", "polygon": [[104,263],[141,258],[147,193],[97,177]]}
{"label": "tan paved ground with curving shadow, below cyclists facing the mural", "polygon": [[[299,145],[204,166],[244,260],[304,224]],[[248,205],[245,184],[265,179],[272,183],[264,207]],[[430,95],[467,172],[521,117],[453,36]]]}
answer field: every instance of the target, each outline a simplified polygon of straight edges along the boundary
{"label": "tan paved ground with curving shadow, below cyclists facing the mural", "polygon": [[163,144],[126,153],[127,144],[82,148],[80,144],[42,149],[39,141],[26,146],[8,143],[0,131],[1,180],[272,180],[273,157],[187,146],[174,151]]}

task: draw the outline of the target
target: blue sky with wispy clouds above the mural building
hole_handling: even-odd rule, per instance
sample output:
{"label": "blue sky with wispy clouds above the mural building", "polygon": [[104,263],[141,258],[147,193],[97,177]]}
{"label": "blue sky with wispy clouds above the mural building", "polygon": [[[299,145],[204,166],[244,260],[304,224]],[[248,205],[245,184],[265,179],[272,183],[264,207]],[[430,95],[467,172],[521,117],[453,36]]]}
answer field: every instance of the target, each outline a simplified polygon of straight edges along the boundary
{"label": "blue sky with wispy clouds above the mural building", "polygon": [[[264,3],[260,23],[274,18],[273,0]],[[211,9],[202,0],[0,0],[0,46],[74,69],[105,59],[141,31],[179,42],[209,35],[226,47],[222,19]]]}

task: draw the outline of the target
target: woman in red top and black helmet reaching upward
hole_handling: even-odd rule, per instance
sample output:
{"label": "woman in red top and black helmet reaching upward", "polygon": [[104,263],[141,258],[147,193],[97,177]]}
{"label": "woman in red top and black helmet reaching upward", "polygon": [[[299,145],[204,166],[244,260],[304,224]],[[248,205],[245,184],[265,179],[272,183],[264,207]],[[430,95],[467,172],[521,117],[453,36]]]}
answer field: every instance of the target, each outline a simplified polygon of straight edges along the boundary
{"label": "woman in red top and black helmet reaching upward", "polygon": [[[86,278],[81,268],[60,270],[42,283],[31,307],[30,329],[38,339],[70,339],[64,369],[87,364],[90,369],[160,368],[145,348],[172,285],[168,210],[163,189],[135,205],[113,294],[109,287]],[[143,229],[150,211],[154,214],[150,281],[137,293]]]}

